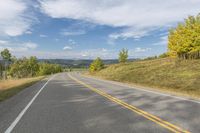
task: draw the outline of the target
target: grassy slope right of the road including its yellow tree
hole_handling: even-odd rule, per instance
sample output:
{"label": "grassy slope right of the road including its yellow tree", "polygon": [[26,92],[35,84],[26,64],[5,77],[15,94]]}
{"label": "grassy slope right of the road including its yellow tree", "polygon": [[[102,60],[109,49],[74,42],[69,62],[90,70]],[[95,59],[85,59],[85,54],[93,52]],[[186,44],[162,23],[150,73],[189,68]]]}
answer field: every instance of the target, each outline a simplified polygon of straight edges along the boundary
{"label": "grassy slope right of the road including its yellow tree", "polygon": [[121,61],[125,51],[120,51],[118,64],[90,75],[200,98],[200,14],[169,31],[166,53],[127,62]]}

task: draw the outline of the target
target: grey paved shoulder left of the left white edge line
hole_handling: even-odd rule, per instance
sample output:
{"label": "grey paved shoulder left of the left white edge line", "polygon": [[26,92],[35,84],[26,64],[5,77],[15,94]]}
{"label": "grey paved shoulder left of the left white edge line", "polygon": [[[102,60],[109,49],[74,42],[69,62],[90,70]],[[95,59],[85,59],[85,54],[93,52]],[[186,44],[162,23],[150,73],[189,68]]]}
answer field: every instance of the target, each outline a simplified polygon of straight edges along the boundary
{"label": "grey paved shoulder left of the left white edge line", "polygon": [[0,132],[4,132],[13,122],[21,110],[28,104],[32,97],[44,85],[48,78],[23,89],[13,97],[0,102]]}

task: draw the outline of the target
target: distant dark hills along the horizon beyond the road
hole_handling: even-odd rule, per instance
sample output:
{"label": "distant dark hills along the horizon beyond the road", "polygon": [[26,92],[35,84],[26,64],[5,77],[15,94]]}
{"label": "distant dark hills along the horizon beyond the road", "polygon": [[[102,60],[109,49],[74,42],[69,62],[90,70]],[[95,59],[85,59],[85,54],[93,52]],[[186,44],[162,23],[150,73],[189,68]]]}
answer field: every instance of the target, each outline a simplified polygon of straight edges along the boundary
{"label": "distant dark hills along the horizon beyond the road", "polygon": [[[129,59],[129,61],[134,61],[135,59]],[[53,64],[60,64],[65,67],[75,67],[75,68],[82,68],[82,67],[89,67],[93,60],[87,59],[39,59],[39,62],[47,62]],[[103,60],[105,64],[116,64],[118,63],[117,59],[106,59]]]}

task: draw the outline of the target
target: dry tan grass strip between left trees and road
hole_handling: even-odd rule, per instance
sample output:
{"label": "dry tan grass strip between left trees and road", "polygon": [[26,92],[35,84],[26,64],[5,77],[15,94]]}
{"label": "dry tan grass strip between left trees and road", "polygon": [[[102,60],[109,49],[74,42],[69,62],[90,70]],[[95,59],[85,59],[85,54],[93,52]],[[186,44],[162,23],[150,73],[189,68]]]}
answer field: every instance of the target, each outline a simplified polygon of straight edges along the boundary
{"label": "dry tan grass strip between left trees and road", "polygon": [[17,94],[22,89],[33,85],[34,83],[42,80],[43,78],[44,76],[0,81],[0,102]]}

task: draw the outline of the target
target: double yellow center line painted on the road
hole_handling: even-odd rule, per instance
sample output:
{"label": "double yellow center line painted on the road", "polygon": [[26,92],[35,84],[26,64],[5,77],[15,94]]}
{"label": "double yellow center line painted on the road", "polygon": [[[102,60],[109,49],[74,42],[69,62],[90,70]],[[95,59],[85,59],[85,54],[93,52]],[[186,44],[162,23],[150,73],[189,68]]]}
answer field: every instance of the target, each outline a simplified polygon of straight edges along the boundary
{"label": "double yellow center line painted on the road", "polygon": [[172,131],[174,133],[190,133],[187,130],[184,130],[184,129],[176,126],[176,125],[173,125],[173,124],[171,124],[171,123],[169,123],[169,122],[167,122],[165,120],[162,120],[161,118],[159,118],[157,116],[154,116],[154,115],[152,115],[152,114],[150,114],[150,113],[148,113],[146,111],[143,111],[143,110],[141,110],[141,109],[139,109],[139,108],[137,108],[137,107],[135,107],[133,105],[127,104],[127,103],[123,102],[122,100],[120,100],[118,98],[115,98],[115,97],[113,97],[113,96],[111,96],[111,95],[109,95],[109,94],[107,94],[107,93],[105,93],[103,91],[100,91],[100,90],[98,90],[98,89],[96,89],[96,88],[94,88],[94,87],[92,87],[92,86],[90,86],[90,85],[88,85],[88,84],[76,79],[75,77],[71,76],[70,74],[68,74],[68,76],[71,79],[73,79],[74,81],[76,81],[77,83],[89,88],[90,90],[100,94],[101,96],[104,96],[107,99],[122,105],[123,107],[125,107],[125,108],[127,108],[127,109],[129,109],[129,110],[131,110],[131,111],[133,111],[133,112],[135,112],[135,113],[147,118],[148,120],[151,120],[151,121],[159,124],[160,126],[166,128],[166,129],[168,129],[168,130],[170,130],[170,131]]}

